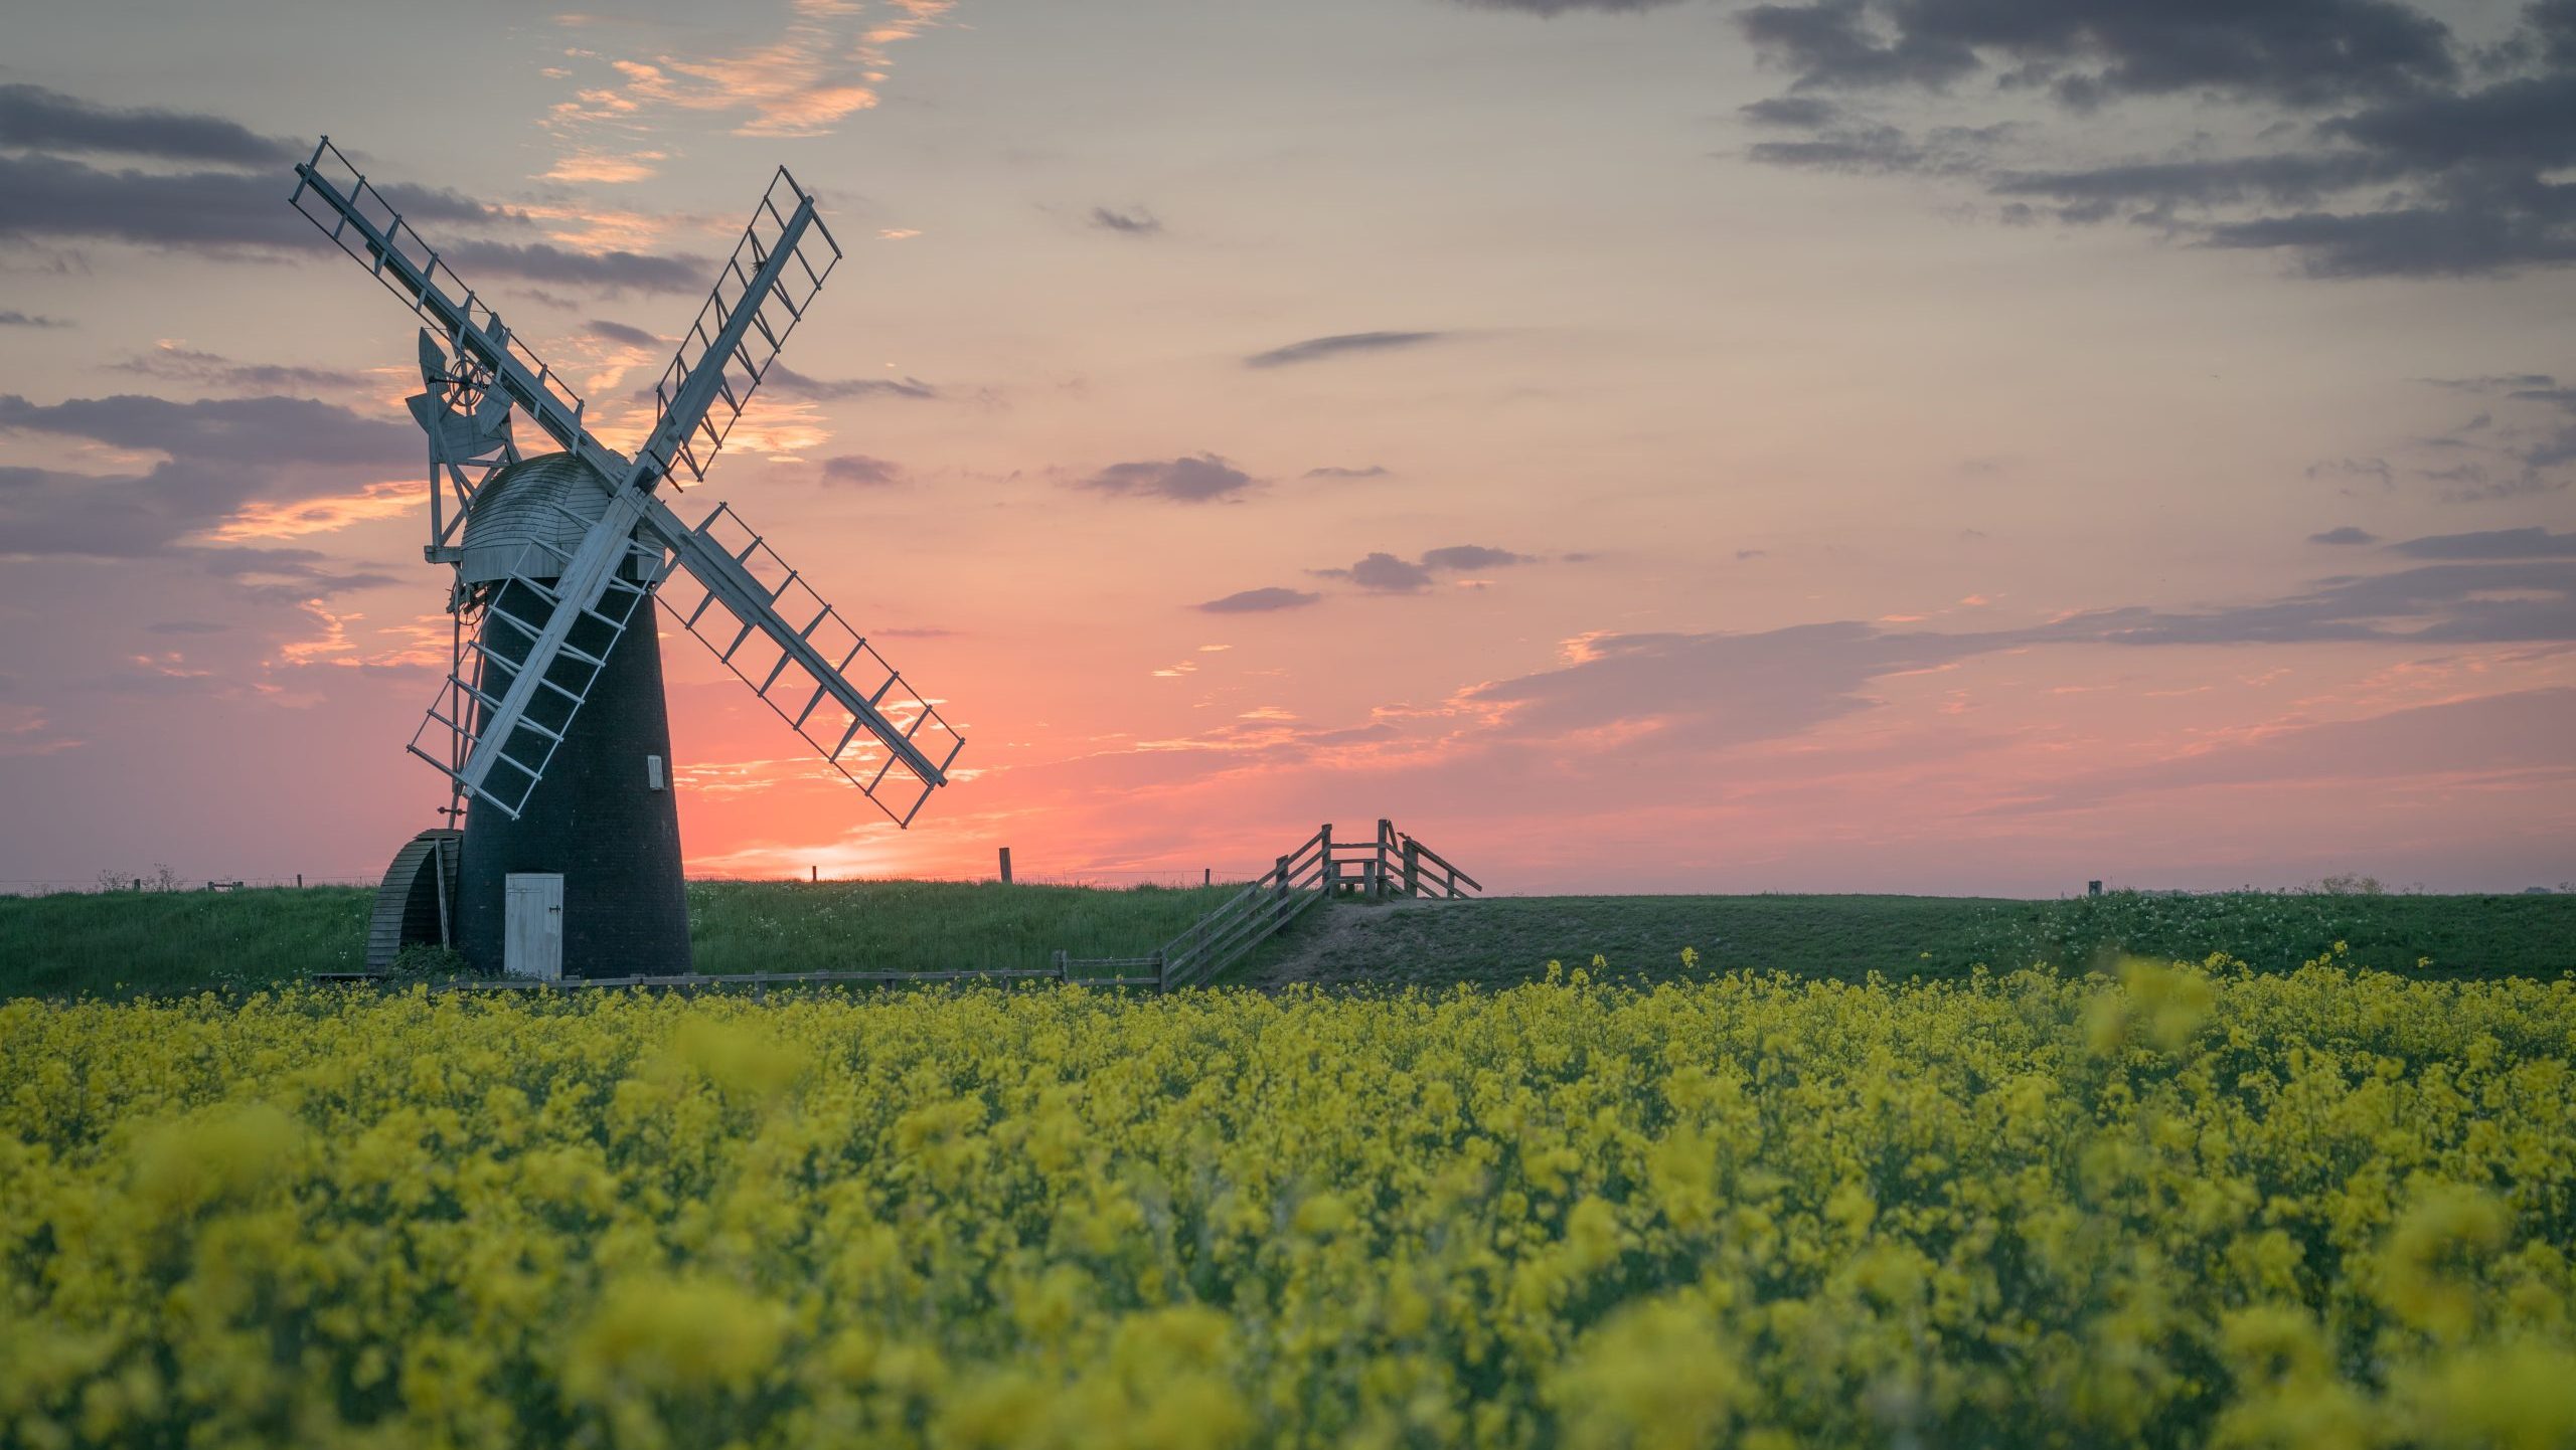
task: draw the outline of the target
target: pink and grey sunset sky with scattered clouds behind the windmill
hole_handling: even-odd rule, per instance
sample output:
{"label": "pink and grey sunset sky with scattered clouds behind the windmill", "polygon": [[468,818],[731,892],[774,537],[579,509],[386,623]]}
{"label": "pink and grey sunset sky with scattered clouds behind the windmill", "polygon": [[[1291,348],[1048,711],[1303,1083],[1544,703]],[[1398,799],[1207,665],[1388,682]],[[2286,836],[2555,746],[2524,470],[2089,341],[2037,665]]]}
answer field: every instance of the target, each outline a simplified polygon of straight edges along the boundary
{"label": "pink and grey sunset sky with scattered clouds behind the windmill", "polygon": [[665,618],[698,876],[1388,816],[1522,894],[2576,878],[2576,0],[8,31],[15,889],[440,824],[415,319],[289,211],[322,134],[618,446],[773,167],[848,252],[675,507],[969,744],[899,832]]}

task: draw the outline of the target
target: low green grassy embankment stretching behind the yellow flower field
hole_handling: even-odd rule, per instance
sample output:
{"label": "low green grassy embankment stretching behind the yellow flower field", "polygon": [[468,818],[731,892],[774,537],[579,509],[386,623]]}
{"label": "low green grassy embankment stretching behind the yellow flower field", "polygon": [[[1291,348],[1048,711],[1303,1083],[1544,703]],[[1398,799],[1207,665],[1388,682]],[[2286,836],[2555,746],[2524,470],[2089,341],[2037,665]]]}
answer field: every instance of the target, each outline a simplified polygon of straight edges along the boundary
{"label": "low green grassy embankment stretching behind the yellow flower field", "polygon": [[[1141,956],[1229,889],[933,881],[690,883],[698,971],[1041,968],[1054,950]],[[371,891],[0,896],[0,994],[193,992],[361,966]],[[2354,966],[2434,979],[2576,968],[2576,896],[1502,896],[1309,912],[1226,981],[1510,984],[1610,961],[1625,981],[1739,968],[1860,979],[1971,966],[2087,968],[2117,953],[2236,956],[2285,971],[2347,943]],[[2419,966],[2429,958],[2429,966]]]}

